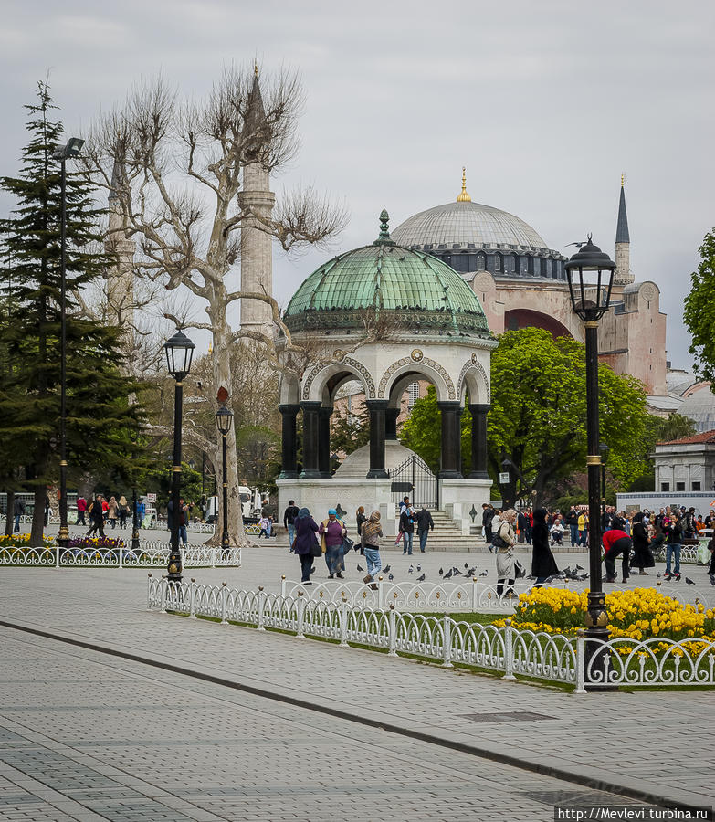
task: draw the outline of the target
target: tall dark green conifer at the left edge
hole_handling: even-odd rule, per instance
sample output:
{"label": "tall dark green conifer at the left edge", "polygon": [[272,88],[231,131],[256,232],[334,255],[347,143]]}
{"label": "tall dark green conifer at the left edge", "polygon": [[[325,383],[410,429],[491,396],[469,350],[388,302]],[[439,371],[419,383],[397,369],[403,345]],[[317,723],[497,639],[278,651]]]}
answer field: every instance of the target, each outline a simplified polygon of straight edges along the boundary
{"label": "tall dark green conifer at the left edge", "polygon": [[[0,441],[5,472],[23,466],[35,491],[31,539],[42,536],[47,485],[58,478],[60,393],[60,169],[52,153],[62,140],[47,84],[26,106],[30,140],[17,177],[0,188],[17,203],[3,221],[7,259],[2,326],[7,376],[0,383]],[[72,470],[131,470],[131,432],[141,408],[130,403],[141,386],[119,370],[121,331],[81,316],[76,294],[100,278],[110,258],[101,248],[100,212],[78,174],[67,174],[67,453]],[[6,285],[9,278],[9,285]]]}

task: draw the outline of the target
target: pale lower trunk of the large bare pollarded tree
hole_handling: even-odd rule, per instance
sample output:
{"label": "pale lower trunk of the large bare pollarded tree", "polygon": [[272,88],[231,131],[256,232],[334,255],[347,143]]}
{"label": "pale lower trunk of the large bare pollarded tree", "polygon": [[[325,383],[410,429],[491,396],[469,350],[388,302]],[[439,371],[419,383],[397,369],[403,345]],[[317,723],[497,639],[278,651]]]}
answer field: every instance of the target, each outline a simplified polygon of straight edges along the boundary
{"label": "pale lower trunk of the large bare pollarded tree", "polygon": [[[219,300],[220,301],[220,300]],[[214,310],[216,308],[216,310]],[[216,305],[209,309],[213,332],[214,332],[214,385],[216,392],[219,388],[226,388],[229,393],[226,406],[231,407],[231,347],[233,346],[233,334],[226,320],[226,311]],[[215,407],[217,402],[215,400]],[[218,521],[216,522],[216,532],[209,540],[209,544],[218,545],[221,543],[222,523],[224,522],[224,493],[223,480],[223,437],[216,427],[216,452],[212,455],[211,461],[216,468],[216,485],[218,487]],[[236,431],[231,420],[231,427],[226,436],[226,482],[228,483],[228,533],[231,537],[231,545],[247,546],[246,532],[243,527],[243,511],[241,500],[238,494],[238,464],[236,456]]]}

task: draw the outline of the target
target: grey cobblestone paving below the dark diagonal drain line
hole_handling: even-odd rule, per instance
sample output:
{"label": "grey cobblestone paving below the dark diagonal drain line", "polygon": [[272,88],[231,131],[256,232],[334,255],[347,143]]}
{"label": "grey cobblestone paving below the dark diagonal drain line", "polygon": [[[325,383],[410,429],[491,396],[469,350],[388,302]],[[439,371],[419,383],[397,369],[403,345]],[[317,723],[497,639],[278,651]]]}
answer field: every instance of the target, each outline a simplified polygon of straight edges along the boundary
{"label": "grey cobblestone paving below the dark diagonal drain line", "polygon": [[8,628],[0,659],[3,820],[539,820],[624,802]]}

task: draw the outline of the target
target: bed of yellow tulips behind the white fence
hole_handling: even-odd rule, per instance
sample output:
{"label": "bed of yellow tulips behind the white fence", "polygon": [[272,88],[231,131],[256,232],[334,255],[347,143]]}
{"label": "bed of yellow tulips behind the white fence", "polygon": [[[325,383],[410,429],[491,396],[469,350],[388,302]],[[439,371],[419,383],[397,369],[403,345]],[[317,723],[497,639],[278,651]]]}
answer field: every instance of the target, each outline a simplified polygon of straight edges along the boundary
{"label": "bed of yellow tulips behind the white fence", "polygon": [[[584,627],[586,604],[585,591],[578,593],[563,588],[534,588],[529,594],[520,595],[519,605],[511,622],[517,629],[573,635],[577,628]],[[692,640],[685,642],[683,648],[695,656],[715,643],[715,609],[706,609],[701,603],[695,606],[683,605],[677,599],[657,593],[653,588],[636,588],[606,594],[605,606],[612,639]],[[492,624],[502,627],[504,620],[497,619]],[[662,642],[655,647],[651,644],[650,648],[658,653],[667,650],[670,645]],[[634,650],[632,642],[616,649],[624,655]]]}

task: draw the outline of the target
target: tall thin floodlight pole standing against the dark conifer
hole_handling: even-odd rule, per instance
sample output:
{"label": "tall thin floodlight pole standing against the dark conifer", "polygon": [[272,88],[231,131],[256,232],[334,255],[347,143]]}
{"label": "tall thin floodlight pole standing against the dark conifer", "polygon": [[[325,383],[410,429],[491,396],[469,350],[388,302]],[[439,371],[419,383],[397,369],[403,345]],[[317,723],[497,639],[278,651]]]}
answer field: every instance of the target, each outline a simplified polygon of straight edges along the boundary
{"label": "tall thin floodlight pole standing against the dark conifer", "polygon": [[60,174],[60,235],[59,235],[59,533],[58,545],[67,548],[67,160],[77,157],[84,140],[70,137],[67,144],[52,154],[59,160]]}

